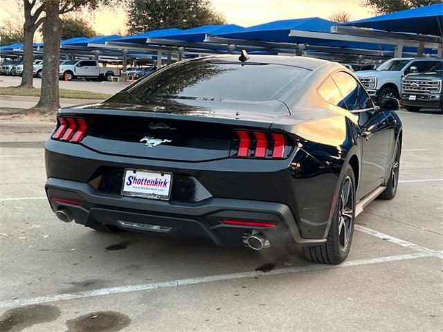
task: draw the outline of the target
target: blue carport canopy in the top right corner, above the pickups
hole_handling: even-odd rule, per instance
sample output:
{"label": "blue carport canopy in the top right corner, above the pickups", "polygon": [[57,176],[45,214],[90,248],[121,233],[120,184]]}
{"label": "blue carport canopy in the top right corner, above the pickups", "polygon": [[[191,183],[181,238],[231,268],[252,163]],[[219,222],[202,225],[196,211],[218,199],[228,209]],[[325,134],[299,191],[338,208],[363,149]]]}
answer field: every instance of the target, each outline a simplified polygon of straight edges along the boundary
{"label": "blue carport canopy in the top right corner, above the pickups", "polygon": [[422,33],[443,36],[443,3],[352,21],[344,26],[359,26],[395,33]]}

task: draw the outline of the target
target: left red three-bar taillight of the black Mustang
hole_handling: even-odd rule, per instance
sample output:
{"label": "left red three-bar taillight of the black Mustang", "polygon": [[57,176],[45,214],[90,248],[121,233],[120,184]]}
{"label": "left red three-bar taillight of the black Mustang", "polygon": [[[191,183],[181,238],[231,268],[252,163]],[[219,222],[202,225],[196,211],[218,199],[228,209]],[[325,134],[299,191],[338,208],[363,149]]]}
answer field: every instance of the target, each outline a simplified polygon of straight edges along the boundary
{"label": "left red three-bar taillight of the black Mustang", "polygon": [[78,143],[87,135],[87,131],[86,119],[59,116],[57,118],[57,128],[55,128],[52,138]]}

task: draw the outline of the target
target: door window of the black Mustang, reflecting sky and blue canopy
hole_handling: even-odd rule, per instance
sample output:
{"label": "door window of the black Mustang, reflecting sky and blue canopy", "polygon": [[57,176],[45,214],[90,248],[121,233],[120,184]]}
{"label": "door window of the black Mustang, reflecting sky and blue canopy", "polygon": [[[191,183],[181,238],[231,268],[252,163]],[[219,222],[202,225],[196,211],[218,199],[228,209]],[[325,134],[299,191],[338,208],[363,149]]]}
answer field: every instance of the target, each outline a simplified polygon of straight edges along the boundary
{"label": "door window of the black Mustang, reflecting sky and blue canopy", "polygon": [[346,109],[356,111],[374,107],[370,96],[354,77],[348,73],[339,71],[338,73],[332,74],[332,79],[336,82],[338,90],[340,90],[343,95]]}

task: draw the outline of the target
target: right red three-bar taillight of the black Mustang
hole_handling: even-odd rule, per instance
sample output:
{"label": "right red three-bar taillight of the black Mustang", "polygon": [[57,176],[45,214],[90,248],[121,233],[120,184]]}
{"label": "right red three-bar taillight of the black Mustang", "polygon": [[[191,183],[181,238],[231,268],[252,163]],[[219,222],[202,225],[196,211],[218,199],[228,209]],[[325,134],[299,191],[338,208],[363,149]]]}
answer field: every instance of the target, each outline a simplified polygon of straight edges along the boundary
{"label": "right red three-bar taillight of the black Mustang", "polygon": [[291,141],[282,133],[237,130],[231,156],[282,159],[291,154],[292,147]]}

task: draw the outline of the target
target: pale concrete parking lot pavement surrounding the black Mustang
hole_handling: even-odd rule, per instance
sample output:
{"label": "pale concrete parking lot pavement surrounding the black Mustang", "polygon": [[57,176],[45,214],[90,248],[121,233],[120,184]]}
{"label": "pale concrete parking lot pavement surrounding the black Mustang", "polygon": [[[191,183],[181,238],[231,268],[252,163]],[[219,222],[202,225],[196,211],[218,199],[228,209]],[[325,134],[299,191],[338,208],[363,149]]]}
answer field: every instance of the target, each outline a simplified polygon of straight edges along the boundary
{"label": "pale concrete parking lot pavement surrounding the black Mustang", "polygon": [[443,331],[443,116],[399,115],[397,196],[358,217],[340,266],[62,223],[48,133],[0,133],[0,332]]}

